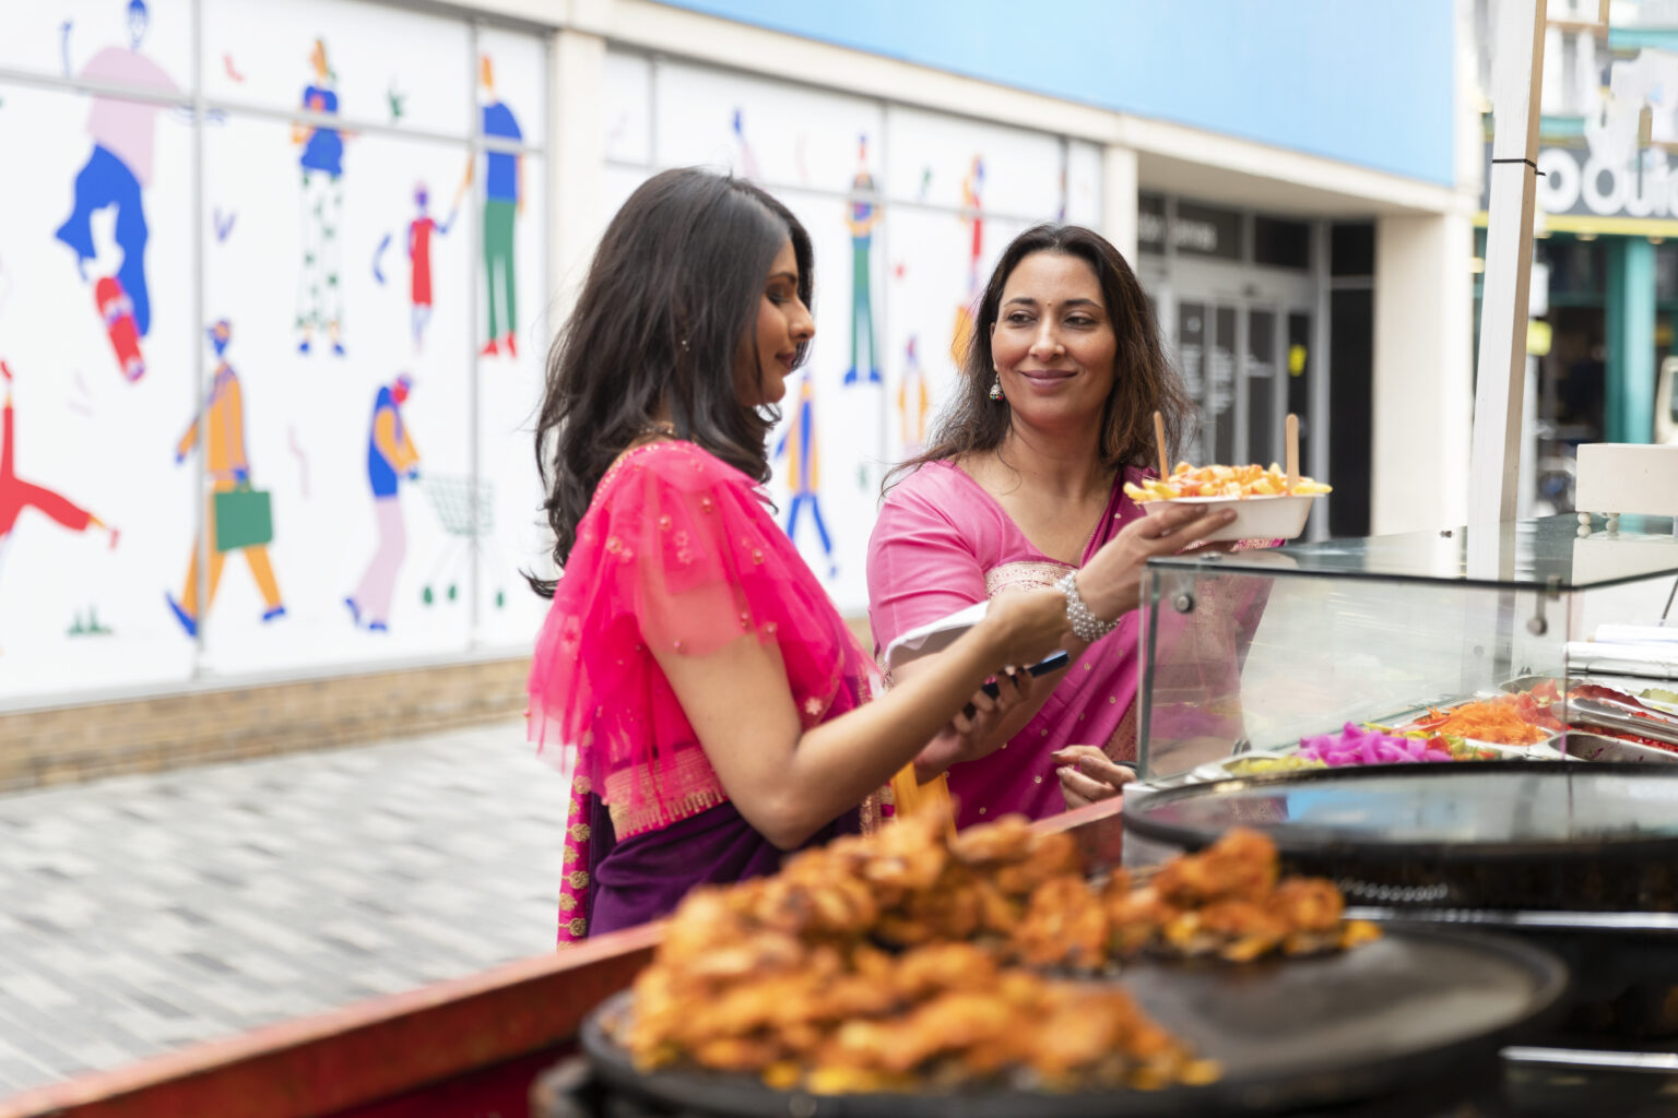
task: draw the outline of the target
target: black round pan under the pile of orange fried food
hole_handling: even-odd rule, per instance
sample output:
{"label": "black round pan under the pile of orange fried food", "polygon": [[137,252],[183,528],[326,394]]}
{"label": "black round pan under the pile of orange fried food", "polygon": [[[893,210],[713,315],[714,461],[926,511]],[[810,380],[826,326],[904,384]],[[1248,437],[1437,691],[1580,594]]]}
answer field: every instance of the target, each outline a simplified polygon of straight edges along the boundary
{"label": "black round pan under the pile of orange fried food", "polygon": [[[703,1115],[743,1118],[1143,1118],[1279,1113],[1374,1098],[1485,1073],[1497,1049],[1545,1016],[1567,976],[1519,940],[1394,929],[1316,959],[1247,965],[1143,960],[1116,979],[1159,1024],[1217,1059],[1208,1086],[1047,1095],[810,1096],[752,1076],[693,1069],[643,1074],[611,1038],[619,994],[584,1022],[582,1048],[616,1088]],[[1020,1027],[1032,1027],[1022,1021]]]}

